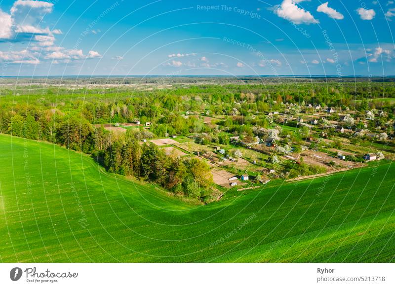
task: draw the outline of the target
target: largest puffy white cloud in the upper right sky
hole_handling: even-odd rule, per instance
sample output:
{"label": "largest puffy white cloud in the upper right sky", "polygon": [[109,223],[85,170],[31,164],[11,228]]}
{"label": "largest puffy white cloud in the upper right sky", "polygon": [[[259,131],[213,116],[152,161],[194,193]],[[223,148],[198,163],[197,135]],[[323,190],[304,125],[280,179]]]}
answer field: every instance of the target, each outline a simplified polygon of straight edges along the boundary
{"label": "largest puffy white cloud in the upper right sky", "polygon": [[319,23],[313,15],[296,4],[303,0],[283,0],[282,3],[276,7],[274,12],[278,17],[291,21],[294,24],[317,24]]}

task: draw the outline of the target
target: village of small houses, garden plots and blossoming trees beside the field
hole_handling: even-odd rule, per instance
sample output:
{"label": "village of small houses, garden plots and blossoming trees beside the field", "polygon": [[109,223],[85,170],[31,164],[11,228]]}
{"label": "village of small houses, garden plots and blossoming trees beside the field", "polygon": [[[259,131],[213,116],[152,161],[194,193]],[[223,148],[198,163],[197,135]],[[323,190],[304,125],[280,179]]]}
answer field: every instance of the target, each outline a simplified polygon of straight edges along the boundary
{"label": "village of small houses, garden plots and blossoming trees beside the field", "polygon": [[[165,133],[164,138],[148,132],[155,123],[138,119],[104,128],[114,133],[144,130],[147,138],[141,144],[156,144],[169,156],[205,160],[220,190],[254,189],[274,179],[315,178],[393,156],[393,139],[387,134],[393,122],[385,112],[314,104],[282,106],[243,114],[234,108],[229,115],[212,115],[209,109],[179,112],[177,116],[185,119],[196,118],[208,132]],[[258,119],[265,127],[257,124]]]}

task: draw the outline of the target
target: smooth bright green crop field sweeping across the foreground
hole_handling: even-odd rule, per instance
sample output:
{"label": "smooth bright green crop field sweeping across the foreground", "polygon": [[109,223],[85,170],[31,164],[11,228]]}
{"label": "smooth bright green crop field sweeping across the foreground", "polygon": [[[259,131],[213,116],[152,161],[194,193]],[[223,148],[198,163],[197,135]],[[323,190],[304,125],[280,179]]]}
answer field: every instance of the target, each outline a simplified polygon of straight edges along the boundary
{"label": "smooth bright green crop field sweeping across the foreground", "polygon": [[57,145],[0,151],[1,262],[395,261],[392,162],[203,206]]}

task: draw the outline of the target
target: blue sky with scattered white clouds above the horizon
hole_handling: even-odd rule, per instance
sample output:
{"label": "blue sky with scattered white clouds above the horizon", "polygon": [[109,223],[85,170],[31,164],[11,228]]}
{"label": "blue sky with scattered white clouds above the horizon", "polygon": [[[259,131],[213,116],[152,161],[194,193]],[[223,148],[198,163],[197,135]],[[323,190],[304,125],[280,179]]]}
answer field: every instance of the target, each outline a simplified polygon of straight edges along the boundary
{"label": "blue sky with scattered white clouds above the horizon", "polygon": [[0,75],[394,75],[394,1],[0,0]]}

